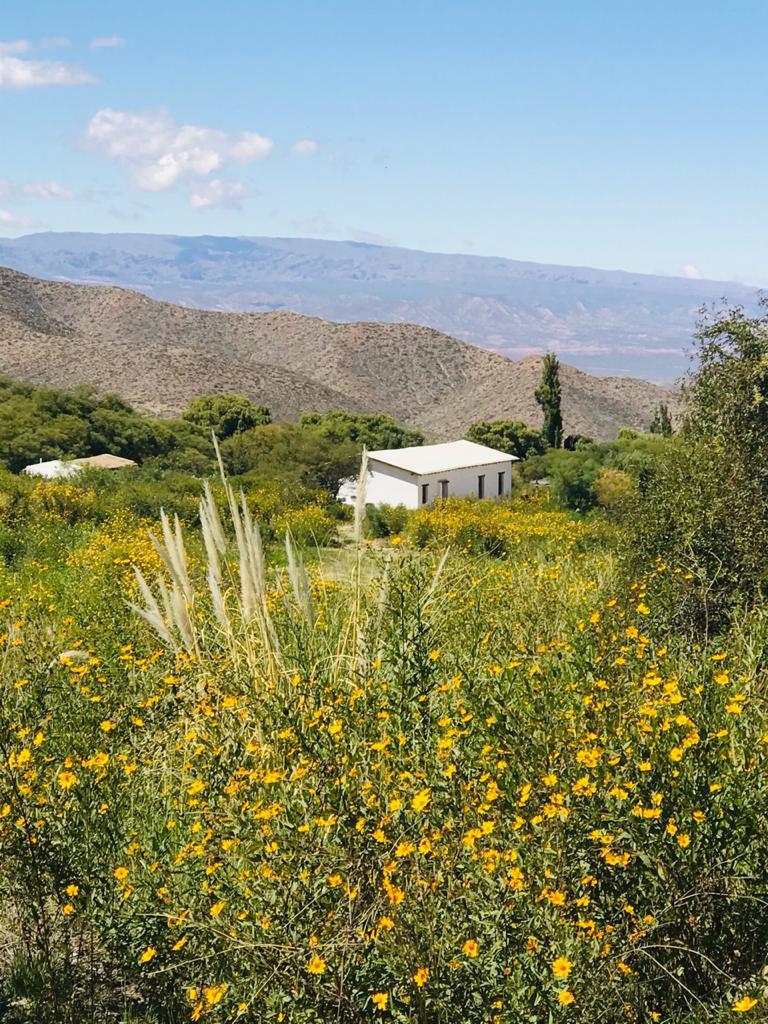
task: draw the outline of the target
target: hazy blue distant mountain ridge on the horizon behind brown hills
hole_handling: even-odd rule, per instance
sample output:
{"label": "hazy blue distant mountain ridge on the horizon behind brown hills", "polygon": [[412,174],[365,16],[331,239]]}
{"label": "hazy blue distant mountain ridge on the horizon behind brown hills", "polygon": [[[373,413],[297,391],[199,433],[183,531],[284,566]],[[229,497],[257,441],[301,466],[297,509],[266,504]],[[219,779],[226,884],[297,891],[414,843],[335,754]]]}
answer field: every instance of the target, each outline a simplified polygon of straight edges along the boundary
{"label": "hazy blue distant mountain ridge on the horizon behind brown hills", "polygon": [[0,264],[220,311],[421,324],[512,358],[671,382],[697,309],[744,285],[317,239],[47,232],[0,239]]}

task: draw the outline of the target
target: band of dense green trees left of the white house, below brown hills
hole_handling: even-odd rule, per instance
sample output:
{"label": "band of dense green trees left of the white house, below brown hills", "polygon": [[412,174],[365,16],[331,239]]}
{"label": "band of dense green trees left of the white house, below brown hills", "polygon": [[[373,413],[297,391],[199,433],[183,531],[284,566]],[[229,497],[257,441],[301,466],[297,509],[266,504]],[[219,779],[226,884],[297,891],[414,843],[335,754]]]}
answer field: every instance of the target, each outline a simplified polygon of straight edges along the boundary
{"label": "band of dense green trees left of the white house, below brown hills", "polygon": [[180,417],[153,419],[116,394],[33,387],[0,378],[0,464],[12,472],[40,460],[111,452],[151,468],[196,476],[215,471],[213,435],[238,476],[335,492],[356,471],[359,452],[421,444],[423,436],[391,417],[343,412],[272,423],[244,395],[202,395]]}

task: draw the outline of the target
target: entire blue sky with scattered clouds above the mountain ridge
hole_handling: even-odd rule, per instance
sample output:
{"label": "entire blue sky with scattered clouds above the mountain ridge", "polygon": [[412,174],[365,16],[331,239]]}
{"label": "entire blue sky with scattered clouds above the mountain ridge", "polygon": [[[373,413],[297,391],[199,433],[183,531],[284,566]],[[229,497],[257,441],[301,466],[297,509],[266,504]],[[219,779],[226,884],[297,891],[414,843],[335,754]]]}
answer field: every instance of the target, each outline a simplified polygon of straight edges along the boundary
{"label": "entire blue sky with scattered clouds above the mountain ridge", "polygon": [[0,236],[768,286],[764,0],[4,0]]}

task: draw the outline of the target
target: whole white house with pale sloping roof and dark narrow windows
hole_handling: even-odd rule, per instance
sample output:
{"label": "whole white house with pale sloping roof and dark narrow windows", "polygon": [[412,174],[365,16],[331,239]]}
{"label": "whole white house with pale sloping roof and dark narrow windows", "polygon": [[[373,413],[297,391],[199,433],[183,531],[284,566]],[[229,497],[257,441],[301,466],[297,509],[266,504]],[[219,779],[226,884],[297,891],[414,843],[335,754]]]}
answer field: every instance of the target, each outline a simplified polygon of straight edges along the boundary
{"label": "whole white house with pale sloping roof and dark narrow windows", "polygon": [[[516,456],[474,441],[368,453],[367,505],[417,509],[436,498],[502,498],[512,488]],[[339,500],[354,504],[356,484],[346,481]]]}

